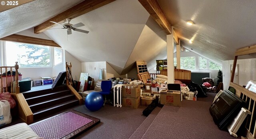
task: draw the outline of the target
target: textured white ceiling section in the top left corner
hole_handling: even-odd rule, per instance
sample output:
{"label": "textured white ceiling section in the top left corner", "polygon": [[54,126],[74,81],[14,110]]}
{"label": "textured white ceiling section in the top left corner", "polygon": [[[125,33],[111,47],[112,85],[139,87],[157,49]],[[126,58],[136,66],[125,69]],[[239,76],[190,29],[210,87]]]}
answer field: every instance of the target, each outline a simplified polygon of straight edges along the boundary
{"label": "textured white ceiling section in the top left corner", "polygon": [[34,0],[0,12],[0,38],[37,26],[83,0]]}

